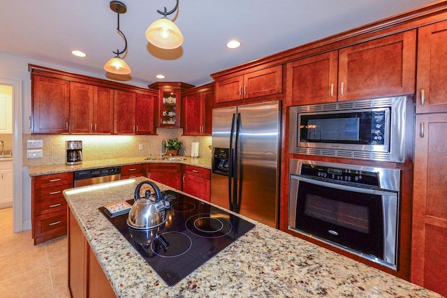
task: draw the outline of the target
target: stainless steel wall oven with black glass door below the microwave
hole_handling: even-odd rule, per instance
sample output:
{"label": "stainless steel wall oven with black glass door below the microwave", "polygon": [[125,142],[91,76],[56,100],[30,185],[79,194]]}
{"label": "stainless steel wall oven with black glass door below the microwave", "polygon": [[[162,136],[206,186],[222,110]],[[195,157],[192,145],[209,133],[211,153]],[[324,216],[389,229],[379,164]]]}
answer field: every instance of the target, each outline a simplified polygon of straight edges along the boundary
{"label": "stainless steel wall oven with black glass door below the microwave", "polygon": [[288,229],[397,270],[400,170],[290,160]]}

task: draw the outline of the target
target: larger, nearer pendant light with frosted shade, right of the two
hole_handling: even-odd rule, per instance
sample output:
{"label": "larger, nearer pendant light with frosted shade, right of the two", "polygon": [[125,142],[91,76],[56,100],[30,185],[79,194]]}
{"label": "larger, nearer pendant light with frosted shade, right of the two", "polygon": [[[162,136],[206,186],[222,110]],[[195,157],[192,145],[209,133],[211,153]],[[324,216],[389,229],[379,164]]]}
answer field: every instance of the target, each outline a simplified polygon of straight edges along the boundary
{"label": "larger, nearer pendant light with frosted shade, right of the two", "polygon": [[156,10],[157,13],[163,15],[160,20],[153,22],[146,30],[146,38],[149,43],[155,45],[156,47],[161,47],[162,49],[175,49],[182,45],[183,35],[180,32],[179,27],[174,24],[173,21],[169,20],[167,15],[174,13],[179,6],[179,0],[175,4],[175,8],[170,11],[160,11]]}

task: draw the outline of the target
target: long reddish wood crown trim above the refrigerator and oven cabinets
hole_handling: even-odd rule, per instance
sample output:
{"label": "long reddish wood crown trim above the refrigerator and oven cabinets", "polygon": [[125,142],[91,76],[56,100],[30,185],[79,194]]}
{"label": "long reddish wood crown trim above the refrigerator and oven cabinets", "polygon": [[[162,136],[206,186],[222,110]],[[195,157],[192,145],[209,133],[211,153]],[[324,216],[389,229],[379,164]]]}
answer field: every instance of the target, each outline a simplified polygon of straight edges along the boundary
{"label": "long reddish wood crown trim above the refrigerator and oven cabinets", "polygon": [[224,80],[251,71],[284,64],[289,61],[311,57],[331,50],[339,50],[343,47],[349,47],[376,38],[416,29],[442,20],[447,20],[447,1],[439,1],[414,10],[409,10],[400,15],[388,17],[327,38],[313,41],[312,43],[307,43],[305,45],[293,47],[290,50],[256,59],[247,64],[241,64],[233,68],[221,70],[217,73],[213,73],[211,77],[214,81]]}

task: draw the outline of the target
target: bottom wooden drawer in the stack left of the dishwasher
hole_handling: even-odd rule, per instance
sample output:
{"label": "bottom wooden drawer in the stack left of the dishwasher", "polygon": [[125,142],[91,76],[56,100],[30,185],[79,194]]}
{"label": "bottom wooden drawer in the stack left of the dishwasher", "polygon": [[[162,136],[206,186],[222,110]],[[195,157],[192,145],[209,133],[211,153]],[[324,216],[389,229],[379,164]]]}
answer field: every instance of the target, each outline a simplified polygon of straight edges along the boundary
{"label": "bottom wooden drawer in the stack left of the dishwasher", "polygon": [[41,238],[67,232],[67,210],[51,212],[34,218],[34,237]]}

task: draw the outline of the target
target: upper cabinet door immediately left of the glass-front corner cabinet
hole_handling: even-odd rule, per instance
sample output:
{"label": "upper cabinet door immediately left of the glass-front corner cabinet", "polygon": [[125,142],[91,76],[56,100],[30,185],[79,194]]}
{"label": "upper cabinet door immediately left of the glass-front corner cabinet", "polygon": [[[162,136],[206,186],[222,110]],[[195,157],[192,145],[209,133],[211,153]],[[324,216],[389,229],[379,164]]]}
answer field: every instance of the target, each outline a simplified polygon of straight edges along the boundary
{"label": "upper cabinet door immediately left of the glass-front corner cabinet", "polygon": [[135,134],[155,135],[156,96],[136,94]]}

